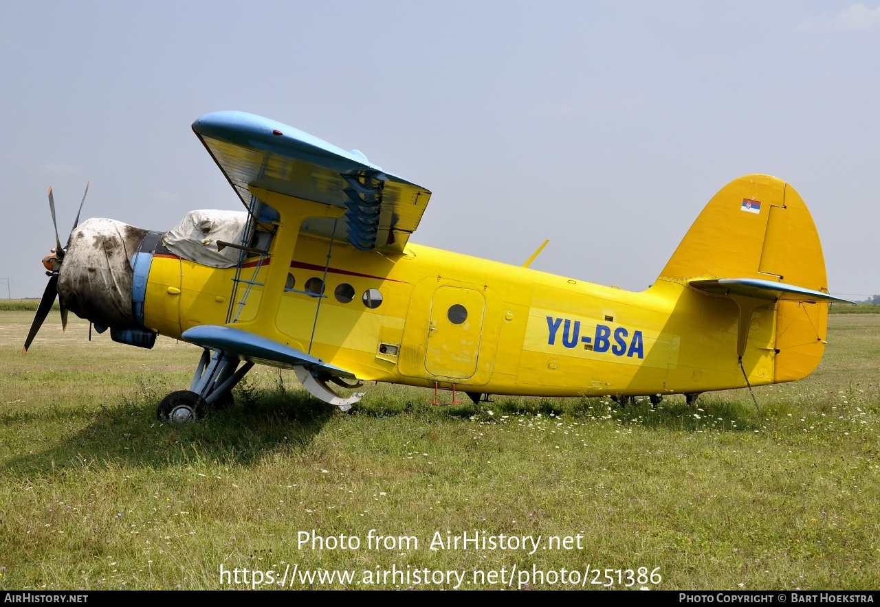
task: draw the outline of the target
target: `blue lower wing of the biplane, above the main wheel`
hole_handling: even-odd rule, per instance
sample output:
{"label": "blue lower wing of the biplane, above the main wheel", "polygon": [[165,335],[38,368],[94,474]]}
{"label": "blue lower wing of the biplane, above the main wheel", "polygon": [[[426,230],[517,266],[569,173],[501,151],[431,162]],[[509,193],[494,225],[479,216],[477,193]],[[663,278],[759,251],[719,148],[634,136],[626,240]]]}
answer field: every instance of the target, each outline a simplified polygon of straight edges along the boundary
{"label": "blue lower wing of the biplane, above the main wheel", "polygon": [[292,369],[303,366],[309,371],[324,373],[334,377],[356,379],[355,374],[330,365],[301,350],[275,342],[267,337],[254,335],[241,329],[219,325],[201,325],[183,332],[183,340],[202,348],[213,348],[233,354],[243,360],[261,365]]}

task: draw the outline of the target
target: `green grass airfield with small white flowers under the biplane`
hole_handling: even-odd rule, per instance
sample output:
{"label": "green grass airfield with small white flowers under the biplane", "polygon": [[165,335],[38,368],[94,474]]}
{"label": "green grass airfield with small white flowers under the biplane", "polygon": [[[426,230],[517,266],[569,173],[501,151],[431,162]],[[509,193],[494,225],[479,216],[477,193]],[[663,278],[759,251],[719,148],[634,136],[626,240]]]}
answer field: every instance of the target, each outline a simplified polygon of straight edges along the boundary
{"label": "green grass airfield with small white flowers under the biplane", "polygon": [[[182,427],[155,408],[188,387],[198,349],[90,343],[87,323],[62,334],[53,313],[23,358],[32,317],[0,312],[3,589],[243,588],[222,584],[221,567],[266,581],[295,566],[354,577],[289,575],[294,589],[456,586],[445,573],[414,583],[425,569],[502,588],[490,573],[502,567],[517,567],[514,589],[880,588],[878,314],[833,314],[818,371],[756,389],[760,415],[744,390],[621,410],[436,407],[381,385],[342,414],[292,372],[258,366],[233,408]],[[431,550],[436,532],[541,539],[532,554]],[[301,546],[302,533],[360,546]],[[547,543],[566,536],[568,549]],[[409,580],[383,580],[390,569]]]}

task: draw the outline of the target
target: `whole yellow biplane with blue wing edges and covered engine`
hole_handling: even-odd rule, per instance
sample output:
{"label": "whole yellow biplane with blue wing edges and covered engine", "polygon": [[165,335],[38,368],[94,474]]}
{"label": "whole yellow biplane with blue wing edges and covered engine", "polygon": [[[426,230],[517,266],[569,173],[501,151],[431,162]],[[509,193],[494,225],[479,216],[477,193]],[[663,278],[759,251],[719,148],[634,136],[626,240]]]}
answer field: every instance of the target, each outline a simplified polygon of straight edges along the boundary
{"label": "whole yellow biplane with blue wing edges and covered engine", "polygon": [[[664,394],[801,379],[831,301],[807,207],[788,184],[740,177],[700,213],[642,293],[409,242],[431,192],[292,126],[243,112],[197,119],[245,212],[194,211],[167,232],[75,226],[44,264],[55,300],[114,341],[202,347],[158,416],[231,401],[255,364],[293,369],[342,410],[363,381],[466,393]],[[49,201],[55,220],[51,189]],[[82,204],[80,205],[80,209]],[[77,214],[78,221],[78,214]],[[537,252],[536,252],[537,255]],[[332,387],[335,384],[337,387]],[[436,398],[435,398],[436,401]]]}

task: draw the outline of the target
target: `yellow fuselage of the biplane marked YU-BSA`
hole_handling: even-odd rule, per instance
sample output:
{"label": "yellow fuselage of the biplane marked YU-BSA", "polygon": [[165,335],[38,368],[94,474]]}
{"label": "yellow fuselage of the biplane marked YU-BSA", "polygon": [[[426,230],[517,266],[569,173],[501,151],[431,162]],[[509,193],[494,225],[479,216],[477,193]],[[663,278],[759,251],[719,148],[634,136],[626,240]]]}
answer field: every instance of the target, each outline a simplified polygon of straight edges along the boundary
{"label": "yellow fuselage of the biplane marked YU-BSA", "polygon": [[[180,337],[230,323],[359,379],[486,394],[744,386],[736,304],[684,281],[660,278],[632,293],[416,244],[397,255],[329,245],[300,234],[290,261],[275,250],[246,261],[238,277],[158,254],[143,325]],[[752,314],[743,360],[752,385],[774,381],[775,306]]]}

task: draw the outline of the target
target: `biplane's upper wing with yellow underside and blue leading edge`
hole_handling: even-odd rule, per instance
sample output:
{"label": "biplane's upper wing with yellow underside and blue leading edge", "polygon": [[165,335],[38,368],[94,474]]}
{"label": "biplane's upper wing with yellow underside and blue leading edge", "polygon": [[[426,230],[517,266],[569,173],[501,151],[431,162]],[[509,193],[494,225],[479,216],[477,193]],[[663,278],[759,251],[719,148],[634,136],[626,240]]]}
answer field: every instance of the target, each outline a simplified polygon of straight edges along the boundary
{"label": "biplane's upper wing with yellow underside and blue leading edge", "polygon": [[[402,251],[418,227],[431,192],[385,173],[366,156],[245,112],[213,112],[193,131],[247,205],[248,186],[346,209],[345,234],[358,249]],[[330,236],[333,220],[302,230]]]}

